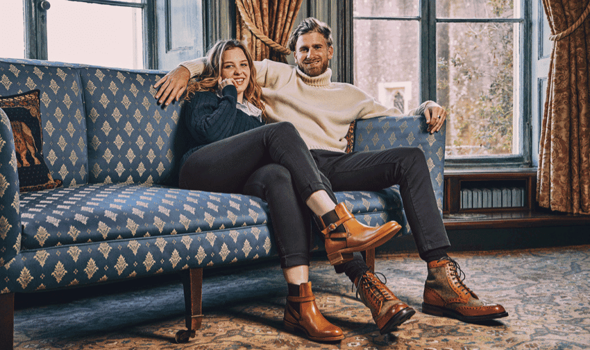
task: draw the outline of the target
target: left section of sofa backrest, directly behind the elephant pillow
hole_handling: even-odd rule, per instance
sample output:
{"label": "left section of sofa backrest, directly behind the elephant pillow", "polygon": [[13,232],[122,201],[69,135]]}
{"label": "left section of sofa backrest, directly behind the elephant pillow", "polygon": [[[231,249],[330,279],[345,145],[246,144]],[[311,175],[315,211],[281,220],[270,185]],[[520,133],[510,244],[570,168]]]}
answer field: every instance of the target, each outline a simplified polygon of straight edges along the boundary
{"label": "left section of sofa backrest, directly behind the elephant pillow", "polygon": [[0,96],[41,91],[43,149],[55,180],[65,186],[87,182],[86,121],[75,64],[2,59]]}

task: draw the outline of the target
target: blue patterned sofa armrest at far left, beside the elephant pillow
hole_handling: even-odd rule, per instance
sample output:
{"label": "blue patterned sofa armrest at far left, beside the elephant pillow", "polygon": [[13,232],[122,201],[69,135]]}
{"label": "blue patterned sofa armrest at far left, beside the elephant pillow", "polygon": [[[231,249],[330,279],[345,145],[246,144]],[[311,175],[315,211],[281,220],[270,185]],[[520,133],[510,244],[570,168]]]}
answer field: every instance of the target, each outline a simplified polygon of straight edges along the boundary
{"label": "blue patterned sofa armrest at far left, beside the elephant pillow", "polygon": [[[0,268],[20,250],[19,173],[10,120],[0,109]],[[4,269],[1,269],[4,270]],[[1,274],[0,274],[1,276]],[[1,290],[0,290],[1,292]]]}

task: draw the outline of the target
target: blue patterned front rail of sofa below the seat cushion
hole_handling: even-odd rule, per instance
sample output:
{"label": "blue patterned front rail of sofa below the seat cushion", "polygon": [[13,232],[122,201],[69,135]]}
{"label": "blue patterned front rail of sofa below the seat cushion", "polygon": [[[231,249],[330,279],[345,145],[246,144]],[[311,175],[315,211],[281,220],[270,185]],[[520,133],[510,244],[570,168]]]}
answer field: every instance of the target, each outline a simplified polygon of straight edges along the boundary
{"label": "blue patterned front rail of sofa below the seat cushion", "polygon": [[0,290],[51,290],[260,259],[276,255],[271,239],[261,225],[26,250],[6,264]]}

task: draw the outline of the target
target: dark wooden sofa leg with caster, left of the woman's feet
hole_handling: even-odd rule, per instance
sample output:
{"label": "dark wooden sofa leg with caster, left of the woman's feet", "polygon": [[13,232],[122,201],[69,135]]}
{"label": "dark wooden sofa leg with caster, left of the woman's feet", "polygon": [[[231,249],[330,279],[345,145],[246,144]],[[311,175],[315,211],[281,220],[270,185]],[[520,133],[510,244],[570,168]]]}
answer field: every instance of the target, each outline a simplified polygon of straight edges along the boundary
{"label": "dark wooden sofa leg with caster, left of the woman's feet", "polygon": [[203,314],[201,313],[201,299],[203,292],[203,269],[195,268],[182,273],[185,290],[185,320],[187,329],[176,332],[174,340],[177,343],[188,342],[194,338],[196,330],[201,328]]}

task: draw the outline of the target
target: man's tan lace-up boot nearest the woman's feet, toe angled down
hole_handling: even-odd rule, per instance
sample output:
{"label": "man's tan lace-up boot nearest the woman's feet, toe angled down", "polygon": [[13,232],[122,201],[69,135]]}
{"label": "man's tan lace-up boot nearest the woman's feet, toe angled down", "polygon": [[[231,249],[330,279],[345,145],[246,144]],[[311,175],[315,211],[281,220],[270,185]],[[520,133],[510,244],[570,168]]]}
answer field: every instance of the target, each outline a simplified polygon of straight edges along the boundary
{"label": "man's tan lace-up boot nearest the woman's feet, toe angled down", "polygon": [[371,271],[365,272],[355,281],[357,297],[365,304],[373,315],[373,320],[381,334],[393,331],[416,313],[398,299],[387,286]]}

